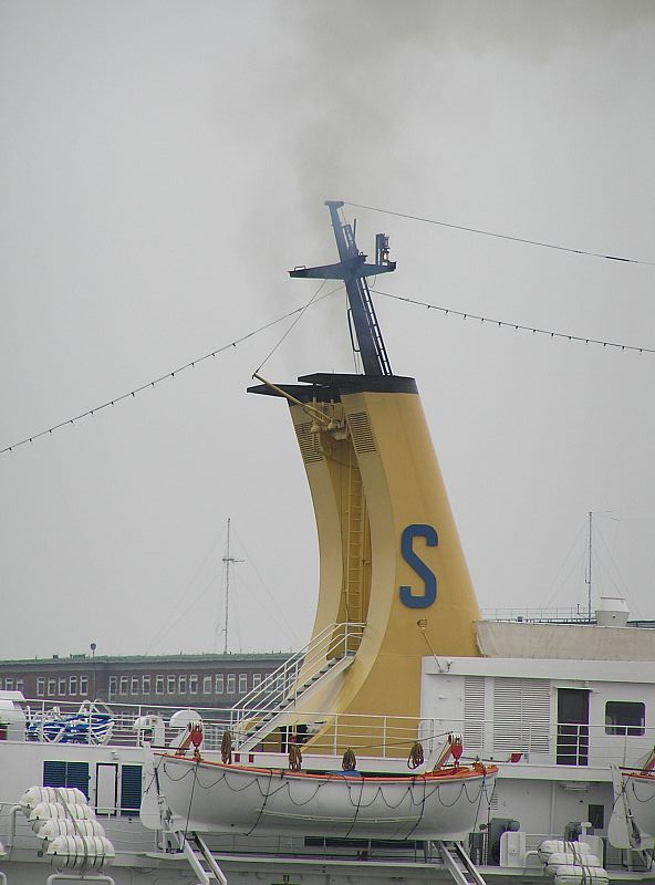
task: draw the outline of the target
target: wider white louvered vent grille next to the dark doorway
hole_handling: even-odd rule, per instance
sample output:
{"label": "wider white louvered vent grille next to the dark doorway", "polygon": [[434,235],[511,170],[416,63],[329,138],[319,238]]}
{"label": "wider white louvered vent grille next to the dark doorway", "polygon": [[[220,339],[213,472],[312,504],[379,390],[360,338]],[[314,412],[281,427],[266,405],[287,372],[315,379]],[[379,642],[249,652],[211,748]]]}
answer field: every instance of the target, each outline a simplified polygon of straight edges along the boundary
{"label": "wider white louvered vent grille next to the dark doorway", "polygon": [[493,750],[510,753],[549,752],[548,679],[493,680]]}

